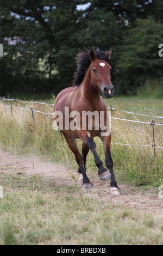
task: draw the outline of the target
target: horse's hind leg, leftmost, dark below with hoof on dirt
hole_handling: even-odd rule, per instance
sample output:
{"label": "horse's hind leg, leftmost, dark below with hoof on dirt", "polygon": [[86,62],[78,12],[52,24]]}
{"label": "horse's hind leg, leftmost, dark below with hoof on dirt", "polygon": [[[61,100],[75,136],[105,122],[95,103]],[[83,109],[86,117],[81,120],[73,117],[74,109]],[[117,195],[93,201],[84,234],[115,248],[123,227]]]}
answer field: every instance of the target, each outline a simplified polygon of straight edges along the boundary
{"label": "horse's hind leg, leftmost, dark below with hoof on dirt", "polygon": [[71,151],[73,152],[73,154],[76,157],[76,161],[77,161],[79,168],[81,170],[81,173],[83,175],[83,188],[91,188],[92,185],[90,183],[89,178],[86,175],[85,167],[84,167],[84,159],[78,150],[76,138],[68,137],[65,134],[64,134],[64,136],[65,136],[65,139],[67,141],[69,148],[71,149]]}

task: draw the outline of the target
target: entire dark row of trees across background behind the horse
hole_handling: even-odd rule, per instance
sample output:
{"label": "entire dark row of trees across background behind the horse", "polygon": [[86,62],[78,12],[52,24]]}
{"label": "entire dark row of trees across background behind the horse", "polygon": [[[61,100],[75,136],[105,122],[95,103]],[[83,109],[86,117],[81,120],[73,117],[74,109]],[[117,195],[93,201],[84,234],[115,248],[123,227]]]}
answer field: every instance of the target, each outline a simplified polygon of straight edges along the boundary
{"label": "entire dark row of trees across background behind the horse", "polygon": [[96,47],[112,48],[117,94],[162,88],[162,11],[161,0],[0,0],[0,95],[58,93]]}

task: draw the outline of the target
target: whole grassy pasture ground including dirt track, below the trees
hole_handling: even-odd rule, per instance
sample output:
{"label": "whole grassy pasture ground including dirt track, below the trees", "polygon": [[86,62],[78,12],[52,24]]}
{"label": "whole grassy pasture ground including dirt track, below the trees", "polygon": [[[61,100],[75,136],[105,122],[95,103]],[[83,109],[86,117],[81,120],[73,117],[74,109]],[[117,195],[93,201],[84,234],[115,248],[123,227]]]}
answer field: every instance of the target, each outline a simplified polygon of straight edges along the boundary
{"label": "whole grassy pasture ground including dirt track, below the trees", "polygon": [[[54,102],[46,101],[48,103]],[[0,102],[4,105],[4,102]],[[5,102],[8,104],[7,102]],[[112,117],[161,123],[161,119],[121,110],[162,116],[162,99],[113,97]],[[12,106],[53,113],[53,106],[13,102]],[[151,109],[151,110],[149,110]],[[1,244],[19,245],[162,245],[163,149],[122,144],[153,144],[152,125],[111,119],[111,154],[119,197],[109,181],[100,181],[92,154],[86,168],[92,190],[77,187],[77,163],[65,139],[45,114],[10,108],[1,116]],[[163,147],[162,126],[154,126],[155,144]],[[97,152],[104,162],[101,141]],[[78,141],[80,150],[82,143]]]}

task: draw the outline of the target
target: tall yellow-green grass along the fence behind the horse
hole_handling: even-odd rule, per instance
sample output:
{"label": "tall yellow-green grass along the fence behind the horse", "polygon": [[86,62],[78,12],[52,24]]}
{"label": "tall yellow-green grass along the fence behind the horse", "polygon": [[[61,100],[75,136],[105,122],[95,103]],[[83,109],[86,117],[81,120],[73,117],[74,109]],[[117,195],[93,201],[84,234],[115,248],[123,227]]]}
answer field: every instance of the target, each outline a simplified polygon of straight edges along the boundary
{"label": "tall yellow-green grass along the fence behind the horse", "polygon": [[[14,106],[14,105],[13,105]],[[17,103],[17,107],[21,104]],[[29,108],[53,113],[52,106],[29,105]],[[114,106],[118,108],[117,106]],[[114,117],[137,119],[136,115],[128,117],[126,113],[114,111]],[[65,139],[61,139],[60,133],[54,131],[52,123],[54,119],[49,116],[48,124],[45,114],[34,112],[34,120],[30,111],[25,111],[25,123],[23,123],[22,109],[13,108],[11,117],[10,108],[7,108],[7,117],[4,107],[0,108],[0,142],[5,148],[11,151],[25,154],[41,154],[46,159],[54,162],[65,162],[74,168],[78,168],[74,155],[68,148]],[[145,120],[145,119],[143,119]],[[149,119],[147,120],[149,122]],[[158,121],[157,121],[158,122]],[[163,146],[162,126],[155,126],[155,143]],[[115,143],[126,144],[153,144],[152,125],[130,123],[123,120],[111,119],[112,145],[111,154],[114,161],[114,172],[121,182],[130,182],[136,185],[162,185],[162,149],[155,149],[156,162],[154,161],[154,148],[138,147],[136,145],[116,145]],[[97,152],[104,163],[104,153],[101,140],[95,138]],[[78,141],[81,151],[82,142]],[[155,164],[156,163],[156,164]],[[86,168],[88,172],[97,170],[93,155],[89,152]]]}

